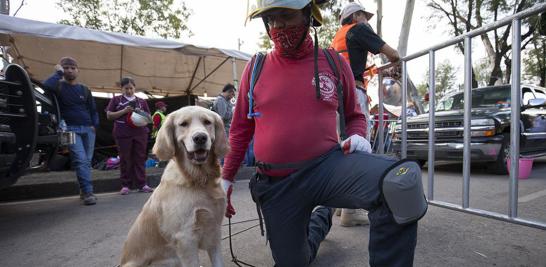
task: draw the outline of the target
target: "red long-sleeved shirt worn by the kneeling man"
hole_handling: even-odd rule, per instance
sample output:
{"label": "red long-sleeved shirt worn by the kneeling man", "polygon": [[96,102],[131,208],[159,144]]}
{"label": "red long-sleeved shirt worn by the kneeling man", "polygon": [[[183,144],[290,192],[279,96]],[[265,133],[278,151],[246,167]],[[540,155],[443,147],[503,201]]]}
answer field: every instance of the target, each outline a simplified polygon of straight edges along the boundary
{"label": "red long-sleeved shirt worn by the kneeling man", "polygon": [[[360,111],[349,65],[340,60],[346,132],[348,136],[366,136],[366,122]],[[254,112],[260,117],[247,118],[249,64],[241,86],[225,158],[223,177],[233,180],[254,136],[256,160],[266,163],[293,163],[316,158],[338,144],[336,111],[338,107],[336,76],[324,54],[319,53],[321,99],[314,86],[313,53],[294,60],[268,53],[254,87]],[[268,175],[284,176],[294,170],[270,170]]]}

